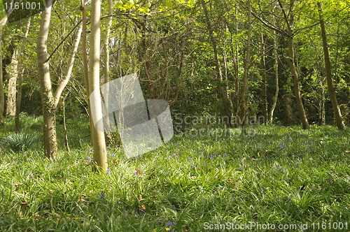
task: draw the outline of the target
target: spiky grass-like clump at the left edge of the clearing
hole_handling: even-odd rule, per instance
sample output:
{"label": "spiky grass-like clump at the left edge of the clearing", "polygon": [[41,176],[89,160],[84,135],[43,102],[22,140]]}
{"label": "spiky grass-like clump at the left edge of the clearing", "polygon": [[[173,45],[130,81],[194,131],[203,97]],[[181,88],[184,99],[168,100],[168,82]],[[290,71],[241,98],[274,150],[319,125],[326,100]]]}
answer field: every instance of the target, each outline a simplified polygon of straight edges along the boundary
{"label": "spiky grass-like clump at the left edge of the clearing", "polygon": [[36,134],[10,133],[2,139],[3,144],[10,147],[13,152],[28,150],[38,139]]}

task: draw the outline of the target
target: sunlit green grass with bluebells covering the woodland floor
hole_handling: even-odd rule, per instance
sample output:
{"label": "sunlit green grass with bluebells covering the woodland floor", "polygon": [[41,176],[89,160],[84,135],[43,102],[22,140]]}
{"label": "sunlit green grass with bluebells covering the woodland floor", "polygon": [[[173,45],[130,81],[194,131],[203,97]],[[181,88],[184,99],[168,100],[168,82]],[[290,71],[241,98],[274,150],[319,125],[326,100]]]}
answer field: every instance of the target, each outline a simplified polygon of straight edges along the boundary
{"label": "sunlit green grass with bluebells covering the woodland floor", "polygon": [[67,124],[69,154],[59,133],[55,162],[39,142],[22,153],[1,150],[1,231],[234,231],[204,227],[227,222],[308,223],[310,231],[340,222],[344,229],[328,231],[350,231],[349,129],[187,133],[132,159],[109,147],[109,173],[101,175],[92,172],[86,123]]}

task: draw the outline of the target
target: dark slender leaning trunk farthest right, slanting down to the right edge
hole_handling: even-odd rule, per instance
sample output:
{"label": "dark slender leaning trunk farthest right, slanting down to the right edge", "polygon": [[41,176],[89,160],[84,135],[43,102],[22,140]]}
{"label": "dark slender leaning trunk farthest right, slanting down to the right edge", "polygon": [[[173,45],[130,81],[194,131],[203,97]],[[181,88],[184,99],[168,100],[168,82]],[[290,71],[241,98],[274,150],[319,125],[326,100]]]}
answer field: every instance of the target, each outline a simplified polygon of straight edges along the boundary
{"label": "dark slender leaning trunk farthest right, slanting down to the right edge", "polygon": [[321,25],[321,32],[322,32],[322,43],[323,43],[323,54],[325,57],[325,76],[327,78],[327,86],[328,86],[328,92],[330,96],[330,101],[332,102],[333,112],[335,116],[335,122],[337,123],[338,129],[344,129],[344,122],[342,119],[342,113],[340,113],[340,109],[338,106],[337,96],[335,95],[335,88],[332,84],[332,72],[330,68],[330,58],[329,58],[329,52],[328,52],[328,43],[327,43],[327,35],[325,34],[325,22],[323,20],[323,13],[322,13],[322,5],[321,2],[317,3],[318,5],[318,11],[320,15],[320,25]]}

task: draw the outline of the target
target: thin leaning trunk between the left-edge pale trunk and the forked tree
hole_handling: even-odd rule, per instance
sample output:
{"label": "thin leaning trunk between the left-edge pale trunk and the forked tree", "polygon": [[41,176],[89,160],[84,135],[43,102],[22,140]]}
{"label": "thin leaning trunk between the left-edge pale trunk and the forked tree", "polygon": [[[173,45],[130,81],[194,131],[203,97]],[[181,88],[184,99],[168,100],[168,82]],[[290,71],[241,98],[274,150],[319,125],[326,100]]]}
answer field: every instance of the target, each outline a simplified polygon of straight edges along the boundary
{"label": "thin leaning trunk between the left-edge pale trunk and the forked tree", "polygon": [[[20,55],[25,51],[25,44],[27,43],[27,37],[29,34],[29,27],[31,22],[31,16],[28,17],[27,26],[25,27],[25,35],[23,36],[22,45],[20,48]],[[16,96],[16,112],[15,112],[15,131],[20,133],[20,105],[22,101],[22,82],[23,82],[23,73],[25,71],[23,67],[23,60],[20,59],[18,63],[18,86],[17,86],[17,96]]]}

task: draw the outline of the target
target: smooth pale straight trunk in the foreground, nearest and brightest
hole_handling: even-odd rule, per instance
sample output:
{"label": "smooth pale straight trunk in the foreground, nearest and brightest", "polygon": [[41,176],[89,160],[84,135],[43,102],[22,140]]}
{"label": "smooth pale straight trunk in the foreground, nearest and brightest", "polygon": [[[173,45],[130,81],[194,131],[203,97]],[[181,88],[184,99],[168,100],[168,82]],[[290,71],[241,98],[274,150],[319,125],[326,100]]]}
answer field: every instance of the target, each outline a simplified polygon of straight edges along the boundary
{"label": "smooth pale straight trunk in the foreground, nearest and brightest", "polygon": [[[101,38],[100,30],[101,17],[101,0],[91,1],[91,34],[90,34],[90,60],[89,60],[89,95],[90,95],[91,116],[92,119],[102,118],[101,93],[99,91],[99,46]],[[94,162],[97,166],[106,171],[107,156],[106,143],[104,140],[104,132],[98,131],[94,126],[94,122],[90,121],[92,146],[94,147]]]}

